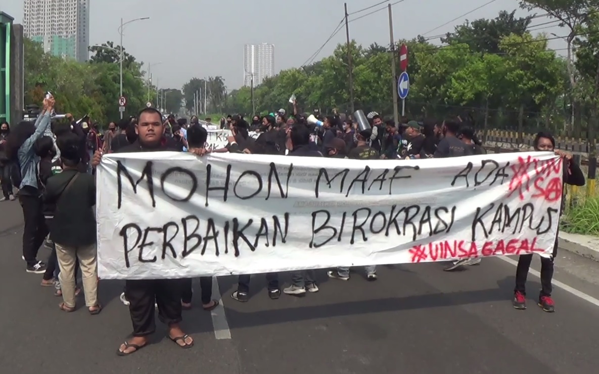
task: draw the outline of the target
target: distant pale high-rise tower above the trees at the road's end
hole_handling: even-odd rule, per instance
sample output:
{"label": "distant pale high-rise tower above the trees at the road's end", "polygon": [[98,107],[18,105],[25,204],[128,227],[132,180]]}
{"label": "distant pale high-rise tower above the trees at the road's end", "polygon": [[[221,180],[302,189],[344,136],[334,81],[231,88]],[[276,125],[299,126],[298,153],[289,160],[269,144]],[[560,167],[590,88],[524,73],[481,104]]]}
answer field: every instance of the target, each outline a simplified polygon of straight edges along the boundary
{"label": "distant pale high-rise tower above the trees at the road's end", "polygon": [[246,44],[243,49],[244,85],[258,86],[265,78],[274,76],[274,44]]}

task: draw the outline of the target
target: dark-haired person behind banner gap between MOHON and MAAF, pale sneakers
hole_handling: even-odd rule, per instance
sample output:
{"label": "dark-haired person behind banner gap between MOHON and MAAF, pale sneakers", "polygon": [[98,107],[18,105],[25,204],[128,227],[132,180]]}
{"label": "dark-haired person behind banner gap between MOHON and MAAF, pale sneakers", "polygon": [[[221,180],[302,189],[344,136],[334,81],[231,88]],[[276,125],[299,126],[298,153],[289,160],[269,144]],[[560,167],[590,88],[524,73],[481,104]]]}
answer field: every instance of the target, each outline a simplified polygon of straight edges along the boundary
{"label": "dark-haired person behind banner gap between MOHON and MAAF, pale sneakers", "polygon": [[[288,131],[288,156],[322,157],[322,153],[310,147],[310,129],[304,125],[295,125]],[[314,270],[291,273],[291,286],[283,289],[288,295],[301,296],[305,292],[318,292],[314,281]]]}

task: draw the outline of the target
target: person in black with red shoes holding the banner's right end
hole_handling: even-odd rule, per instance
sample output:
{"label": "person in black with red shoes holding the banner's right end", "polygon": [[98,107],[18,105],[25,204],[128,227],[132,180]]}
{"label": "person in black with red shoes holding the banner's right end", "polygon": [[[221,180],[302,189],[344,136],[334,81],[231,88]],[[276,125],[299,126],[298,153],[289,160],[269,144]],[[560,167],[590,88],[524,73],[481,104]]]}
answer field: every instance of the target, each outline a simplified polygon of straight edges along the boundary
{"label": "person in black with red shoes holding the banner's right end", "polygon": [[[563,160],[563,182],[571,186],[584,186],[585,176],[580,170],[580,167],[572,161],[572,155],[562,150],[555,150],[555,139],[548,132],[539,132],[533,141],[534,150],[555,152],[561,156]],[[565,188],[563,189],[565,191]],[[565,196],[562,196],[561,210],[559,214],[564,212]],[[539,306],[545,312],[554,312],[555,304],[551,298],[553,287],[551,281],[553,279],[553,261],[558,251],[558,234],[555,236],[555,245],[553,245],[553,253],[550,258],[541,257],[541,292],[539,294]],[[518,267],[516,268],[516,286],[514,288],[513,306],[516,309],[526,309],[526,280],[530,263],[533,261],[533,254],[521,255],[518,259]]]}

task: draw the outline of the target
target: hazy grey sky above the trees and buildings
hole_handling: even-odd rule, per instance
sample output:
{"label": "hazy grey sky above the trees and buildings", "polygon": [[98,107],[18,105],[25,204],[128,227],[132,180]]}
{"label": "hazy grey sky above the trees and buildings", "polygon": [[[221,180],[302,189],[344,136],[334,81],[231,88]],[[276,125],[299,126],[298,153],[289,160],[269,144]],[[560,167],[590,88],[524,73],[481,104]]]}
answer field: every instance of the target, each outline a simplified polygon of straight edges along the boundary
{"label": "hazy grey sky above the trees and buildings", "polygon": [[[392,0],[390,2],[395,2]],[[181,88],[192,77],[222,76],[229,90],[243,85],[244,44],[275,45],[275,69],[280,71],[303,64],[334,31],[343,17],[343,3],[352,13],[380,0],[90,0],[90,44],[107,40],[119,44],[120,18],[150,20],[125,27],[125,50],[152,67],[154,83],[161,88]],[[394,37],[413,38],[467,13],[488,0],[404,0],[392,7]],[[350,20],[371,11],[382,11],[350,23],[350,38],[368,46],[389,44],[389,17],[386,4],[350,16]],[[495,0],[489,5],[443,26],[426,36],[453,31],[466,19],[493,18],[500,10],[518,8],[517,0]],[[0,11],[23,20],[22,0],[2,0]],[[535,12],[543,14],[542,10]],[[519,10],[524,16],[527,12]],[[532,25],[545,23],[534,19]],[[546,27],[541,25],[540,27]],[[542,32],[564,35],[559,28]],[[538,31],[538,32],[541,32]],[[342,30],[326,45],[317,59],[328,56],[344,43]],[[434,42],[440,43],[435,40]],[[560,49],[561,41],[550,41]],[[562,51],[558,53],[563,53]],[[147,66],[147,65],[146,65]]]}

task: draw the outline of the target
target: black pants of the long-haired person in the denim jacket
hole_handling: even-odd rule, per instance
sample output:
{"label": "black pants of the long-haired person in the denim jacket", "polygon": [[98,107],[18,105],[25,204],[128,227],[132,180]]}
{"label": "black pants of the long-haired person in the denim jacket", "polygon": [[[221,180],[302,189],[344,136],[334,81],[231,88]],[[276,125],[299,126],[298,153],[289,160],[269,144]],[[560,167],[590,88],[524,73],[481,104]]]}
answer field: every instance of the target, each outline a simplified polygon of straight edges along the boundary
{"label": "black pants of the long-haired person in the denim jacket", "polygon": [[37,263],[37,254],[48,234],[46,220],[42,213],[41,197],[35,195],[19,195],[19,203],[23,208],[25,228],[23,228],[23,257],[27,266]]}

